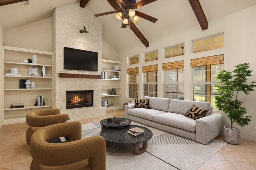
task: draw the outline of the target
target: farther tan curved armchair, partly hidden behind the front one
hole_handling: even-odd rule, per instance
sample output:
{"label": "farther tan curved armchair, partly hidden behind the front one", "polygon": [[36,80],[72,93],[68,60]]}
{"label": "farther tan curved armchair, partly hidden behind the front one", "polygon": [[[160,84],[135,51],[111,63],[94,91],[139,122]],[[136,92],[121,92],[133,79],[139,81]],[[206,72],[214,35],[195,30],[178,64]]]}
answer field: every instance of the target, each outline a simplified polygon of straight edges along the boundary
{"label": "farther tan curved armchair, partly hidden behind the front one", "polygon": [[29,145],[33,133],[48,125],[63,123],[68,120],[68,114],[60,114],[60,109],[44,109],[31,111],[26,116],[26,122],[30,126],[26,132],[26,141]]}

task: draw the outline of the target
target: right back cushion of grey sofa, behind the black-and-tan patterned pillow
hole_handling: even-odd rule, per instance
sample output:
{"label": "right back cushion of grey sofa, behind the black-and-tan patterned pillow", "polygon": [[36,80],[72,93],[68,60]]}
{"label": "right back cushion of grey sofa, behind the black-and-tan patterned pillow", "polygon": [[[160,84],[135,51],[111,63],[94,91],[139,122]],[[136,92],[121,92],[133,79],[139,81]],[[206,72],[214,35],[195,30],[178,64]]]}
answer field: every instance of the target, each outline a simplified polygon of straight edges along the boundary
{"label": "right back cushion of grey sofa, behind the black-and-tan patterned pillow", "polygon": [[[169,106],[168,112],[180,113],[180,114],[185,115],[187,113],[188,109],[193,104],[196,105],[197,107],[201,107],[201,108],[210,110],[210,103],[209,102],[196,102],[196,101],[190,101],[190,100],[170,99],[170,106]],[[208,111],[206,113],[206,115],[209,115],[209,112],[210,111]]]}

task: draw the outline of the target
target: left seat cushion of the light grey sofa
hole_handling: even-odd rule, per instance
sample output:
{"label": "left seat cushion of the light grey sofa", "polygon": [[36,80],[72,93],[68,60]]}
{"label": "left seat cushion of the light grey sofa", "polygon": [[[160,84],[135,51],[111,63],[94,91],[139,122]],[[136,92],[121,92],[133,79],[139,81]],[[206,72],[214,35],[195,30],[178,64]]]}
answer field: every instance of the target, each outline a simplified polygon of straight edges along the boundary
{"label": "left seat cushion of the light grey sofa", "polygon": [[144,109],[144,108],[134,108],[128,110],[128,115],[133,115],[136,117],[141,117],[153,121],[153,116],[166,113],[165,111],[155,110],[155,109]]}

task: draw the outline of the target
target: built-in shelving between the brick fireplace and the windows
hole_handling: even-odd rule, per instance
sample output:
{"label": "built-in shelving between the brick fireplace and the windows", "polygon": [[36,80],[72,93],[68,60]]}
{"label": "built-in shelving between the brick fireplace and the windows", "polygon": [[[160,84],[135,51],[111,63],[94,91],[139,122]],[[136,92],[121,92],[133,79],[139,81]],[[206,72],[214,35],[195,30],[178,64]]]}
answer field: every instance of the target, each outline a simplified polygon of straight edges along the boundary
{"label": "built-in shelving between the brick fireplace and the windows", "polygon": [[[102,59],[102,71],[107,72],[108,78],[112,76],[117,76],[118,72],[122,71],[116,71],[114,70],[114,66],[119,66],[121,68],[121,61],[113,61],[113,60],[105,60]],[[106,92],[108,96],[101,96],[102,100],[108,100],[108,106],[107,110],[117,110],[122,109],[123,105],[121,103],[121,80],[122,80],[122,74],[120,75],[120,79],[102,79],[102,92]],[[116,95],[110,95],[110,92],[112,89],[116,89]],[[113,104],[113,106],[110,106],[110,104]]]}

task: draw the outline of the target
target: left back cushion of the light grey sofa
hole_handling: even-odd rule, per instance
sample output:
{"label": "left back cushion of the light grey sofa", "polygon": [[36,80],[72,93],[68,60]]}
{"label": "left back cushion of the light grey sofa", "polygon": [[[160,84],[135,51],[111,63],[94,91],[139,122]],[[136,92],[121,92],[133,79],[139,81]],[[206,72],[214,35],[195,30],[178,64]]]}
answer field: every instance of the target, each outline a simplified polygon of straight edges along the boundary
{"label": "left back cushion of the light grey sofa", "polygon": [[[144,96],[144,99],[150,100],[150,102],[149,102],[150,109],[156,109],[156,110],[161,110],[161,111],[165,111],[165,112],[168,111],[170,99],[154,98],[154,97],[148,97],[148,96]],[[186,110],[186,111],[188,111],[188,110]]]}

